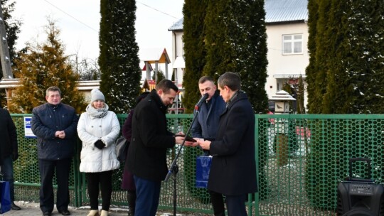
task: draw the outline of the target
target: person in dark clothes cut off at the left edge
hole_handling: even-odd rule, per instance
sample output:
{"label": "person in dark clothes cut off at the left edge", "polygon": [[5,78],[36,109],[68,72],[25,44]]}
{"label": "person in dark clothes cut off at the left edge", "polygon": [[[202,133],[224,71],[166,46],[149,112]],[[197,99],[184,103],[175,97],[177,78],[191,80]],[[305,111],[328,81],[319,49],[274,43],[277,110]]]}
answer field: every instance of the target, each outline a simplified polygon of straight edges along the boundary
{"label": "person in dark clothes cut off at the left edge", "polygon": [[11,193],[11,208],[12,210],[21,210],[15,205],[15,190],[14,190],[14,162],[18,158],[17,148],[17,132],[14,121],[11,118],[8,110],[0,108],[0,168],[4,175],[4,180],[9,181],[9,189]]}

